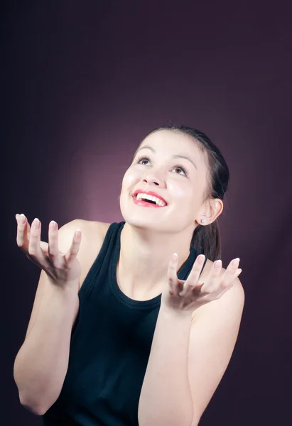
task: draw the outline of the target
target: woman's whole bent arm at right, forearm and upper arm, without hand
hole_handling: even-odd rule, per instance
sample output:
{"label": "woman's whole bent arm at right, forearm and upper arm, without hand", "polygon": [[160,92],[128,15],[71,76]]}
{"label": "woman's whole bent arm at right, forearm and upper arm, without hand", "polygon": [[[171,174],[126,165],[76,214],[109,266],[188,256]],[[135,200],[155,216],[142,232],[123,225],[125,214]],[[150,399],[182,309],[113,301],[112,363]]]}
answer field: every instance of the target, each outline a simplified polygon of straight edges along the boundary
{"label": "woman's whole bent arm at right, forearm and upper arm, without hand", "polygon": [[190,317],[161,307],[141,389],[140,426],[198,425],[229,364],[243,306],[235,278],[231,290]]}

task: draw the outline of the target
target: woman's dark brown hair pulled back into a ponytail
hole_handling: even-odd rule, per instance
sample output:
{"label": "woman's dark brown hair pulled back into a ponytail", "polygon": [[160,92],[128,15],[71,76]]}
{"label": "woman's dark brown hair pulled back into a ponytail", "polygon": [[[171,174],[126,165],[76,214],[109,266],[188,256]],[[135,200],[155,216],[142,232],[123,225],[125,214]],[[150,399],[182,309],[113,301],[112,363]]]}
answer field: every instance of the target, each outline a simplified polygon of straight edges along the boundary
{"label": "woman's dark brown hair pulled back into a ponytail", "polygon": [[[180,125],[157,127],[150,131],[145,138],[151,133],[160,130],[180,131],[193,137],[193,139],[197,142],[200,151],[202,153],[207,153],[209,173],[207,176],[207,189],[203,195],[202,202],[205,202],[208,198],[220,198],[220,200],[223,200],[229,182],[229,168],[222,153],[217,146],[210,141],[210,138],[198,129]],[[141,141],[141,143],[143,141]],[[138,149],[139,147],[137,150]],[[199,224],[193,233],[190,246],[193,246],[198,254],[205,254],[205,257],[209,258],[210,261],[220,259],[222,257],[222,253],[218,220],[215,219],[215,221],[210,225],[204,226]]]}

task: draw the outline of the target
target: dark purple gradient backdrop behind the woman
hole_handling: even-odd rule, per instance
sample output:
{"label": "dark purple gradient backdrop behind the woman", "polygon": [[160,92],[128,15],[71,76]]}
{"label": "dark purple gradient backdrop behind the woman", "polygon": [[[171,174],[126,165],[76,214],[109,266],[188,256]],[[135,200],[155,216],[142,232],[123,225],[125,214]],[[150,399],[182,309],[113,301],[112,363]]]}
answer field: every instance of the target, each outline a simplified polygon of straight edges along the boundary
{"label": "dark purple gradient backdrop behind the woman", "polygon": [[204,131],[229,165],[222,261],[241,258],[246,297],[232,359],[200,426],[288,424],[290,4],[6,1],[3,425],[41,424],[13,381],[40,275],[16,246],[15,214],[38,217],[44,241],[52,219],[120,222],[121,179],[136,146],[170,123]]}

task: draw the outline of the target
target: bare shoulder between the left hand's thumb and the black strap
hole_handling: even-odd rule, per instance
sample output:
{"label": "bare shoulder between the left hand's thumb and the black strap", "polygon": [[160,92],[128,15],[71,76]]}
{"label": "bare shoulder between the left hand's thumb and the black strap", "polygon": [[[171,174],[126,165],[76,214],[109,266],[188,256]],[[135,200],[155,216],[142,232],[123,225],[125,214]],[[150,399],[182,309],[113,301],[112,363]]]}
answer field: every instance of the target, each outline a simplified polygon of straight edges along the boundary
{"label": "bare shoulder between the left hand's thumb and the black strap", "polygon": [[109,229],[108,223],[96,222],[85,219],[75,219],[75,227],[81,229],[81,243],[77,255],[81,265],[80,288],[84,283],[87,273],[90,271],[94,260],[97,258],[104,237]]}

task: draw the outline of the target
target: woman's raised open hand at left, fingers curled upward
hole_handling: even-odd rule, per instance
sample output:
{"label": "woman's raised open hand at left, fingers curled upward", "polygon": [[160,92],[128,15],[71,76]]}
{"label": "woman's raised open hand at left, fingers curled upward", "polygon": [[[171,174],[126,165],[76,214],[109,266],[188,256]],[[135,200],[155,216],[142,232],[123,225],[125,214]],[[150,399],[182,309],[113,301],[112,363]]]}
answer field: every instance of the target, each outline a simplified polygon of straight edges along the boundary
{"label": "woman's raised open hand at left, fingers curled upward", "polygon": [[[24,218],[21,224],[21,217]],[[62,253],[58,247],[58,224],[50,222],[48,229],[48,243],[40,241],[41,223],[34,219],[29,226],[26,217],[23,214],[16,214],[17,236],[16,243],[18,247],[26,253],[26,256],[36,265],[43,269],[51,282],[64,287],[66,283],[78,281],[81,273],[80,262],[77,259],[77,253],[80,249],[80,236],[73,235],[72,244],[67,253]],[[34,224],[39,226],[34,228]],[[55,224],[55,230],[51,225]]]}

